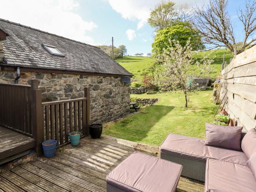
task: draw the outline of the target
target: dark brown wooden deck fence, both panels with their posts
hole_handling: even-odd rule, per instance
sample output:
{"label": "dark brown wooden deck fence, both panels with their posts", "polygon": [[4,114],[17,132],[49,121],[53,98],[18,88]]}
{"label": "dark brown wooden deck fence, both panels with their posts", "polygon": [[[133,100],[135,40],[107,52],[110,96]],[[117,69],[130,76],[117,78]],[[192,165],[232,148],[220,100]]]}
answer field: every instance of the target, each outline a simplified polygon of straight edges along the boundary
{"label": "dark brown wooden deck fence, both panels with their posts", "polygon": [[35,139],[35,151],[42,154],[41,143],[55,139],[57,146],[69,143],[68,133],[88,135],[90,124],[90,88],[84,98],[42,103],[39,80],[31,86],[0,84],[0,125]]}

